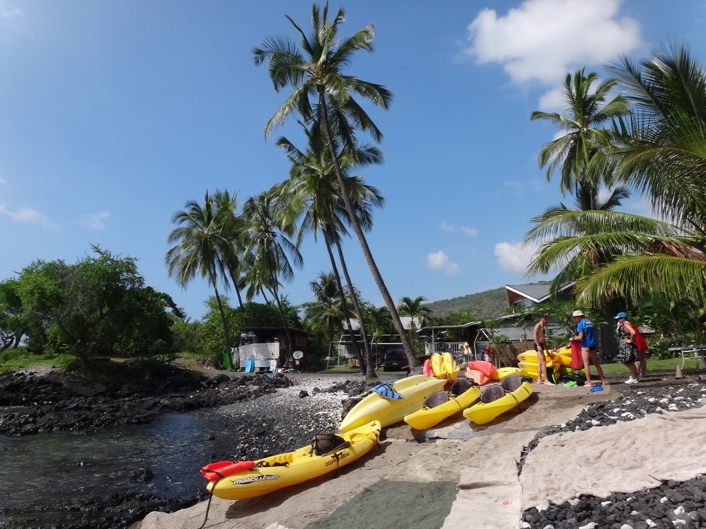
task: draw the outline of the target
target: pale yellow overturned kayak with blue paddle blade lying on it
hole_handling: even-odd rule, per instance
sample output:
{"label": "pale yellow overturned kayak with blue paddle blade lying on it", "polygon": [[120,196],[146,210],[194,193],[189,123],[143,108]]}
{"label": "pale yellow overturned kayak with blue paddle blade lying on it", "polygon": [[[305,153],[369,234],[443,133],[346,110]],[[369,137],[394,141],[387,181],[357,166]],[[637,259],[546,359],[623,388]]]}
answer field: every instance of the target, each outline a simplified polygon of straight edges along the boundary
{"label": "pale yellow overturned kayak with blue paddle blade lying on it", "polygon": [[391,389],[402,396],[402,399],[388,399],[373,392],[351,408],[341,422],[339,430],[349,432],[373,420],[379,420],[383,428],[400,422],[405,415],[421,409],[424,399],[436,391],[441,391],[445,383],[445,380],[426,375],[412,375],[397,380]]}

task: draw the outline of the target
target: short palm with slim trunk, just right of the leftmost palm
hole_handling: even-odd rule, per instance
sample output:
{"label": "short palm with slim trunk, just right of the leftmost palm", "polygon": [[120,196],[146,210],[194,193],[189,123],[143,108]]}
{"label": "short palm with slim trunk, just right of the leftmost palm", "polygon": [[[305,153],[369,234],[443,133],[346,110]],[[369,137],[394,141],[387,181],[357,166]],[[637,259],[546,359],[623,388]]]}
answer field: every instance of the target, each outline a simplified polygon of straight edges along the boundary
{"label": "short palm with slim trunk, just right of the leftmost palm", "polygon": [[241,217],[244,254],[249,255],[253,277],[275,298],[287,334],[287,347],[291,349],[294,343],[280,299],[280,277],[291,281],[294,278],[292,265],[301,268],[304,264],[299,250],[287,238],[292,235],[293,224],[285,217],[285,209],[273,190],[246,200]]}

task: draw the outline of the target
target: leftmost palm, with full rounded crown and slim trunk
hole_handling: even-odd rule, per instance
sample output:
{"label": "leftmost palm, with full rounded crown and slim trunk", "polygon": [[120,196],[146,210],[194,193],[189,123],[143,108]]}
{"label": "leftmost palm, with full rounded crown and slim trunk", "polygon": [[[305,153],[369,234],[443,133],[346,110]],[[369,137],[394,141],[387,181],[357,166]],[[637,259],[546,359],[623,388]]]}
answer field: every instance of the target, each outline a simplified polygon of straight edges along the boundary
{"label": "leftmost palm, with full rounded crown and slim trunk", "polygon": [[164,256],[169,276],[176,279],[182,288],[186,288],[196,276],[208,279],[221,315],[227,351],[230,351],[230,336],[218,292],[218,280],[222,280],[226,291],[229,281],[233,281],[240,300],[237,286],[239,220],[235,214],[236,198],[237,193],[230,195],[227,190],[216,190],[213,196],[206,191],[203,204],[186,202],[184,209],[172,216],[172,224],[177,224],[177,227],[169,233],[167,241],[177,244]]}

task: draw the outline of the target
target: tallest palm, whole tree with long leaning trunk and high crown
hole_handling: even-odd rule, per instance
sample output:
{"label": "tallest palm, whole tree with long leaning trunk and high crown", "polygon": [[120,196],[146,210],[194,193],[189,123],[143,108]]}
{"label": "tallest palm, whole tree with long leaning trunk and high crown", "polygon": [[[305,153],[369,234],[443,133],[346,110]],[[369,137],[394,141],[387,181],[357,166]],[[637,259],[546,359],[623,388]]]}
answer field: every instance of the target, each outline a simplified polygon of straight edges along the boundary
{"label": "tallest palm, whole tree with long leaning trunk and high crown", "polygon": [[265,125],[265,138],[270,131],[295,112],[305,123],[318,121],[325,138],[335,176],[340,186],[346,213],[361,245],[363,255],[371,270],[385,305],[390,310],[393,322],[400,333],[410,367],[416,367],[412,343],[407,339],[397,314],[395,303],[378,270],[363,229],[355,213],[354,205],[347,192],[347,186],[336,156],[336,136],[348,152],[355,152],[355,130],[370,133],[373,140],[382,138],[380,130],[354,98],[359,95],[369,99],[381,109],[387,109],[392,101],[392,93],[382,85],[361,80],[353,75],[343,75],[342,68],[352,61],[352,55],[359,49],[372,51],[373,26],[368,25],[349,38],[338,36],[338,26],[345,20],[345,11],[339,9],[333,20],[328,20],[328,4],[321,9],[313,4],[311,22],[313,32],[307,37],[299,25],[287,16],[289,22],[301,36],[301,49],[289,39],[267,39],[261,47],[253,48],[256,65],[268,63],[268,73],[276,92],[287,86],[294,88],[279,110]]}

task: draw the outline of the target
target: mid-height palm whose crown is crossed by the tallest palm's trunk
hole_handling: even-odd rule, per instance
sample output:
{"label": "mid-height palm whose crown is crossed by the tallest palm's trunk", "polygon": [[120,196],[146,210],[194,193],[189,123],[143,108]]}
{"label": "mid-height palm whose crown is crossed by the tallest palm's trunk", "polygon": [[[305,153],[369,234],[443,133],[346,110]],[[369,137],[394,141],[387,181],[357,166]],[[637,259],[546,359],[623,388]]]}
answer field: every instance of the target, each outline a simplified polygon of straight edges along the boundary
{"label": "mid-height palm whose crown is crossed by the tallest palm's trunk", "polygon": [[[277,141],[277,145],[285,149],[287,158],[292,163],[292,168],[289,171],[289,180],[282,183],[282,192],[292,197],[291,200],[289,200],[289,204],[292,205],[296,212],[301,214],[302,217],[297,244],[299,245],[299,243],[301,243],[306,233],[312,233],[315,240],[318,232],[323,233],[326,250],[328,251],[331,266],[333,267],[333,273],[340,285],[341,303],[346,317],[347,327],[348,329],[352,329],[351,322],[347,317],[347,296],[341,283],[332,247],[335,247],[337,250],[338,259],[348,286],[349,299],[353,304],[361,326],[361,338],[364,344],[366,362],[362,362],[362,359],[359,358],[359,363],[361,370],[365,370],[364,375],[373,379],[376,375],[373,358],[371,358],[372,352],[366,333],[364,316],[342,250],[341,238],[348,234],[345,228],[348,219],[345,213],[345,207],[343,207],[342,198],[340,197],[340,188],[333,174],[333,164],[330,162],[328,149],[326,149],[325,145],[321,142],[319,134],[321,128],[314,124],[311,127],[304,127],[304,130],[309,138],[309,148],[306,153],[294,147],[292,142],[289,142],[287,138],[280,138],[280,140]],[[349,153],[345,151],[339,154],[339,163],[345,168],[353,165],[359,166],[362,164],[381,162],[382,154],[376,147],[371,145],[359,147],[354,156],[350,156]],[[352,197],[352,202],[356,207],[356,213],[361,226],[368,230],[372,226],[372,206],[381,205],[384,199],[376,188],[367,186],[362,178],[350,177],[347,176],[347,174],[345,174],[344,178],[348,186],[349,194]],[[354,339],[353,334],[352,342],[356,354],[360,357],[357,340]]]}

